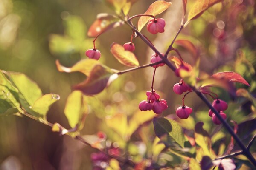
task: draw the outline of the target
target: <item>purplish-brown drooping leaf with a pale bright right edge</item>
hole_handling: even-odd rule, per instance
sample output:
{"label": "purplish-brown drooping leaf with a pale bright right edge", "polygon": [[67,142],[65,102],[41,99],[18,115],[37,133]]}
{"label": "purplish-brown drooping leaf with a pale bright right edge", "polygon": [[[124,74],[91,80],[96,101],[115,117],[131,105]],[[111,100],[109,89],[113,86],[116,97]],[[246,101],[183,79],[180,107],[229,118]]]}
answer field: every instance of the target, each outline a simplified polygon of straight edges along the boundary
{"label": "purplish-brown drooping leaf with a pale bright right edge", "polygon": [[89,77],[84,82],[73,86],[73,89],[79,90],[85,95],[98,94],[117,77],[117,74],[102,65],[95,65],[90,71]]}

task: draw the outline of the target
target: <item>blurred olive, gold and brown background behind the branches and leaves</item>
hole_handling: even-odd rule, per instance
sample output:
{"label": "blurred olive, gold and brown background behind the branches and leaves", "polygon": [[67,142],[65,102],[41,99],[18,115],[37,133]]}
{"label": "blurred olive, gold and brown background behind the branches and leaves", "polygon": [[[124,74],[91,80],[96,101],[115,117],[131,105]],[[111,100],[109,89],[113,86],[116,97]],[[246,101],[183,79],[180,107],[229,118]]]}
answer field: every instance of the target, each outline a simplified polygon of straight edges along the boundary
{"label": "blurred olive, gold and brown background behind the branches and leaves", "polygon": [[[130,16],[143,14],[153,2],[154,0],[138,0],[131,8]],[[182,2],[171,2],[172,6],[159,15],[166,20],[165,33],[155,36],[149,34],[145,28],[142,31],[163,52],[175,36],[182,15]],[[192,2],[189,2],[188,9]],[[251,85],[248,91],[255,96],[255,8],[254,0],[218,3],[202,17],[191,21],[177,39],[193,42],[197,53],[192,54],[183,47],[175,47],[191,65],[200,58],[200,69],[204,73],[235,71],[241,74]],[[82,82],[86,77],[80,73],[58,72],[55,60],[59,59],[62,65],[70,67],[87,58],[84,52],[93,47],[93,39],[87,37],[87,30],[99,13],[114,12],[102,0],[0,0],[0,69],[22,72],[37,82],[44,94],[56,93],[61,96],[47,115],[49,122],[58,122],[70,128],[63,113],[65,102],[71,93],[71,86]],[[136,22],[137,19],[134,19],[134,23]],[[99,61],[110,68],[127,69],[117,62],[109,50],[112,42],[129,42],[131,33],[128,26],[121,26],[102,34],[96,41],[96,46],[102,53]],[[134,54],[140,65],[147,64],[153,52],[140,39],[135,39],[134,44]],[[129,119],[137,112],[139,102],[146,99],[145,91],[150,90],[153,71],[152,68],[146,68],[123,74],[102,93],[88,97],[90,114],[81,134],[92,135],[103,131],[112,142],[118,141],[118,147],[123,149],[125,141],[113,135],[115,130],[105,124],[105,119],[116,113],[125,114]],[[182,96],[172,91],[177,82],[179,79],[166,66],[157,69],[154,88],[161,99],[167,100],[169,106],[163,116],[175,116],[173,113],[182,104]],[[240,84],[236,86],[246,88]],[[237,99],[219,88],[214,88],[213,91],[220,94],[220,99],[229,101],[229,120],[241,123],[255,117],[255,108],[250,101]],[[193,118],[189,119],[191,126],[194,127],[195,122],[203,121],[205,129],[213,132],[214,125],[207,116],[208,109],[199,98],[190,94],[185,103],[194,110]],[[152,143],[155,137],[152,123],[143,132],[147,134],[146,140]],[[247,135],[243,136],[244,141],[247,141],[250,133],[243,135]],[[224,137],[225,133],[222,132],[220,139]],[[138,134],[131,137],[131,143],[140,141],[142,139]],[[136,148],[138,144],[133,146]],[[93,152],[96,150],[70,136],[59,136],[49,127],[32,119],[0,117],[1,170],[90,170],[90,155]],[[144,156],[145,153],[134,153],[137,161]]]}

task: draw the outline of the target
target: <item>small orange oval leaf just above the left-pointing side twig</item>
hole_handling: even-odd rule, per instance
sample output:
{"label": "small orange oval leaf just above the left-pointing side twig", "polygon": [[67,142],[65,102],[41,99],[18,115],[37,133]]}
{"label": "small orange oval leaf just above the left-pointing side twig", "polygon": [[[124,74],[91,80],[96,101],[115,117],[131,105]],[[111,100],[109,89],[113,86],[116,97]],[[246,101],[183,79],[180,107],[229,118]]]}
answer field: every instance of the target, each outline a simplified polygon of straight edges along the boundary
{"label": "small orange oval leaf just above the left-pointing side twig", "polygon": [[126,65],[128,67],[139,66],[139,62],[136,56],[131,51],[125,50],[125,48],[122,45],[119,45],[114,42],[111,45],[110,51],[121,64]]}

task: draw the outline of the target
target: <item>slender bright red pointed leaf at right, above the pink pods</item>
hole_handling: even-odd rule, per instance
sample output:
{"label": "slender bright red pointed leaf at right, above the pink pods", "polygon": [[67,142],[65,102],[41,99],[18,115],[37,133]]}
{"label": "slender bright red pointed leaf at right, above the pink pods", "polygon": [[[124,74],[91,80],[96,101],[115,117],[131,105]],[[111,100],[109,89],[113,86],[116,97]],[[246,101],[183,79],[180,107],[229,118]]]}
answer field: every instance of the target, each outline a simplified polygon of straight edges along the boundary
{"label": "slender bright red pointed leaf at right, above the pink pods", "polygon": [[243,77],[232,71],[215,73],[212,77],[215,79],[225,80],[227,82],[240,82],[250,87],[249,83]]}

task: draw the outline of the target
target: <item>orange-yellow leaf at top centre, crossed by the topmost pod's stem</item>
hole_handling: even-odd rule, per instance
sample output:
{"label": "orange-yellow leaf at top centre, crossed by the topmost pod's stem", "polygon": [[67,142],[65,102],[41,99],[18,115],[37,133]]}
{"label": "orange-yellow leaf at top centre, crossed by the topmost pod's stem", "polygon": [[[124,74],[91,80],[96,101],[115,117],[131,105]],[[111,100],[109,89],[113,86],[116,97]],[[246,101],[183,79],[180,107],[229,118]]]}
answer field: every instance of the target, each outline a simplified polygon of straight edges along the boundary
{"label": "orange-yellow leaf at top centre, crossed by the topmost pod's stem", "polygon": [[[171,6],[171,4],[172,4],[171,2],[166,2],[164,0],[157,0],[148,7],[148,10],[144,14],[156,16],[158,14],[161,14],[166,9],[168,9]],[[140,17],[138,21],[138,30],[141,31],[142,28],[150,19],[151,17],[146,17],[146,16]]]}

